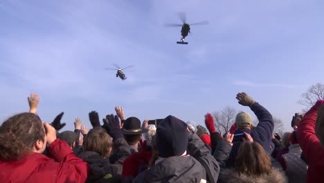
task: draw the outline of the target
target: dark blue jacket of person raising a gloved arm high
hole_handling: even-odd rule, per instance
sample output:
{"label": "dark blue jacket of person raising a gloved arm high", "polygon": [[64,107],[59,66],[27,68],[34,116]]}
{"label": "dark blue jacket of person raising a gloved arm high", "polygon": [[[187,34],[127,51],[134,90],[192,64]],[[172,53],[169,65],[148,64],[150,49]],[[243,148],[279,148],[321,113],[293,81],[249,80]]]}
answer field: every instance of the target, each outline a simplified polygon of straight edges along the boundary
{"label": "dark blue jacket of person raising a gloved arm high", "polygon": [[[255,116],[258,117],[258,125],[256,127],[252,127],[251,130],[236,130],[234,134],[239,134],[242,132],[251,134],[253,141],[260,143],[260,145],[267,152],[267,155],[271,155],[274,148],[274,145],[271,141],[274,128],[273,118],[270,112],[259,103],[254,103],[251,106],[251,110],[254,112]],[[226,166],[234,166],[235,159],[237,157],[237,151],[240,148],[240,145],[241,142],[233,143],[233,148],[226,162]]]}

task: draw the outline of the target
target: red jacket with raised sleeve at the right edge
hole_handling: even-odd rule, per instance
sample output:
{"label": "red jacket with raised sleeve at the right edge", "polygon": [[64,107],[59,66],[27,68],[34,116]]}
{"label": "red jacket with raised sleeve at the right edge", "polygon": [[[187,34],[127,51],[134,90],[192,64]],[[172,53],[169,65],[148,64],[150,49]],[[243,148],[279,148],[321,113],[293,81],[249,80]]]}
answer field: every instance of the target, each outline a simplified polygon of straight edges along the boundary
{"label": "red jacket with raised sleeve at the right edge", "polygon": [[317,110],[322,104],[324,104],[324,100],[317,101],[309,112],[305,114],[297,129],[300,148],[309,162],[307,183],[321,182],[323,180],[324,148],[315,135]]}

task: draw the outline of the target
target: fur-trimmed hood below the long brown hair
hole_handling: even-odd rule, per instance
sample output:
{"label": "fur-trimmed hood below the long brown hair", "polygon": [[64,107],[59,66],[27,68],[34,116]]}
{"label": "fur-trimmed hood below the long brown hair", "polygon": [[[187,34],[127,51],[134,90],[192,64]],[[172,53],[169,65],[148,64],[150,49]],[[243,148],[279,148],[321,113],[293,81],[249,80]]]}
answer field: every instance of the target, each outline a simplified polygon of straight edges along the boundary
{"label": "fur-trimmed hood below the long brown hair", "polygon": [[222,173],[222,181],[228,183],[287,183],[287,177],[276,168],[272,168],[269,174],[264,175],[239,175],[233,168],[225,169]]}

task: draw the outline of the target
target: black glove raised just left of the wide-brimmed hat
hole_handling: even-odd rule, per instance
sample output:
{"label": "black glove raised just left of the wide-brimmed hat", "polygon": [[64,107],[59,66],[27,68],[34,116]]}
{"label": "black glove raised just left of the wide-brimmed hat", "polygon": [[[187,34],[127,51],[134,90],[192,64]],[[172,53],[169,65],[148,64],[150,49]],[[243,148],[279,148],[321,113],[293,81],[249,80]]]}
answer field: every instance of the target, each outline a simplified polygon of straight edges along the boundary
{"label": "black glove raised just left of the wide-brimmed hat", "polygon": [[118,116],[114,116],[114,114],[110,114],[106,116],[106,119],[102,119],[102,121],[104,123],[104,125],[102,125],[102,128],[105,128],[107,133],[110,135],[110,137],[113,138],[114,141],[123,137],[123,134],[119,126]]}

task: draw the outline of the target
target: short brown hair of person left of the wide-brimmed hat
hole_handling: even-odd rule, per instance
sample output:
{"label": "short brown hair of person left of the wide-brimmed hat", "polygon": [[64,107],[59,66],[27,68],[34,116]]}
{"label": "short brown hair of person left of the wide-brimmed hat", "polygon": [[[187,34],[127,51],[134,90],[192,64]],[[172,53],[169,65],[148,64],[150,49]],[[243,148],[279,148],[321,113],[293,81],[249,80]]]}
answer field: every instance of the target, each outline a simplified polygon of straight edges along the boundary
{"label": "short brown hair of person left of the wide-brimmed hat", "polygon": [[106,130],[101,127],[96,127],[89,130],[83,142],[84,150],[89,150],[98,153],[101,157],[107,157],[109,148],[113,146],[111,137]]}

